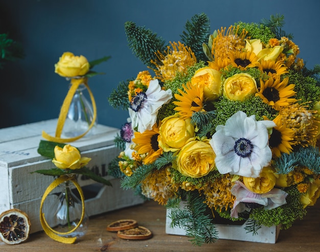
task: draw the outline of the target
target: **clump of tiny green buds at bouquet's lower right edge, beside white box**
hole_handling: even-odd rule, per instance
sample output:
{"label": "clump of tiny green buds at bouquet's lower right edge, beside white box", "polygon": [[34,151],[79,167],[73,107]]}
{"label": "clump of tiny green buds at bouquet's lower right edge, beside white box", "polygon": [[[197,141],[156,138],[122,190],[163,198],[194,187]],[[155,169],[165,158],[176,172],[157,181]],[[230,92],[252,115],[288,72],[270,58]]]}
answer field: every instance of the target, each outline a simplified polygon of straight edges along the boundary
{"label": "clump of tiny green buds at bouquet's lower right edge, beside white box", "polygon": [[250,213],[250,219],[254,219],[264,226],[281,224],[282,229],[289,228],[297,219],[303,219],[307,211],[300,203],[301,194],[295,186],[285,188],[285,191],[288,193],[286,204],[270,210],[263,207],[255,208]]}

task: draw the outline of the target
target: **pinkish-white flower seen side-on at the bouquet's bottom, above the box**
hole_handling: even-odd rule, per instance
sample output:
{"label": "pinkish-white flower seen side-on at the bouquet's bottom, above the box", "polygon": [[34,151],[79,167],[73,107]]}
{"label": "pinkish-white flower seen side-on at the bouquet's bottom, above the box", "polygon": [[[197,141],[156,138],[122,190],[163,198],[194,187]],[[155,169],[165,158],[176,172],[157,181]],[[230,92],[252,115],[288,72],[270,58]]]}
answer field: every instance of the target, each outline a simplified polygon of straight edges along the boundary
{"label": "pinkish-white flower seen side-on at the bouquet's bottom, above the box", "polygon": [[272,188],[265,194],[255,194],[249,191],[239,180],[232,187],[231,193],[236,196],[233,208],[231,209],[232,218],[238,218],[238,213],[250,211],[257,204],[263,205],[267,210],[284,205],[287,203],[286,197],[288,196],[286,192],[278,188]]}

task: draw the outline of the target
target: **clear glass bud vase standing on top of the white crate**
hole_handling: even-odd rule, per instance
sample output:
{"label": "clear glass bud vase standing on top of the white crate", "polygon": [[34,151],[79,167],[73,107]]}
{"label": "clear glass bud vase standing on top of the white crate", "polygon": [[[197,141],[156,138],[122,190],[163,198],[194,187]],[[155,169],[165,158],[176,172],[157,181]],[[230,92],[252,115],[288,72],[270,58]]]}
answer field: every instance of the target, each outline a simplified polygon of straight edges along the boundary
{"label": "clear glass bud vase standing on top of the white crate", "polygon": [[[84,95],[86,91],[85,85],[80,84],[73,96],[62,131],[64,137],[70,138],[83,134],[88,130],[94,119],[92,103]],[[96,118],[94,127],[85,136],[95,133],[97,123],[98,119]]]}

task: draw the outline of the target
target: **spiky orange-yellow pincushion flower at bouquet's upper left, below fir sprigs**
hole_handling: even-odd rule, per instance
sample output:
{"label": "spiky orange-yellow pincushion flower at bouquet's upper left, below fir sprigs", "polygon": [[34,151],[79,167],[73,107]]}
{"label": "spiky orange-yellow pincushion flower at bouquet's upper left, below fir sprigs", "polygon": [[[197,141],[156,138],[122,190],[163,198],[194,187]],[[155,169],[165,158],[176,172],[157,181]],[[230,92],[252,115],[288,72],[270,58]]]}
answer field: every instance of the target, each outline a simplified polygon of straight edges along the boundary
{"label": "spiky orange-yellow pincushion flower at bouquet's upper left, below fir sprigs", "polygon": [[167,47],[165,54],[157,51],[155,54],[158,60],[151,60],[151,63],[155,65],[156,69],[152,69],[156,77],[161,81],[173,79],[176,72],[186,73],[188,67],[193,66],[197,59],[190,47],[186,47],[184,44],[171,43]]}

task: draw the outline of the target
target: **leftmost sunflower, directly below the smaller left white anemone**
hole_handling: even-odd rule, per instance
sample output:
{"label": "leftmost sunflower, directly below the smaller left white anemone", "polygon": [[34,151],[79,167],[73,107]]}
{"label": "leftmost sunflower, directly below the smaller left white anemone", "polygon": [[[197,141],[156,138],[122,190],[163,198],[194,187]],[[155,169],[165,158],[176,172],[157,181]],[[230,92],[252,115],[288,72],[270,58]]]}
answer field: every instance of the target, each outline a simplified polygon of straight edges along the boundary
{"label": "leftmost sunflower, directly below the smaller left white anemone", "polygon": [[152,130],[145,130],[143,133],[134,132],[132,142],[136,144],[134,151],[139,155],[146,154],[144,164],[154,162],[159,157],[163,150],[158,145],[159,129],[155,123]]}

